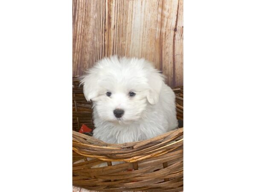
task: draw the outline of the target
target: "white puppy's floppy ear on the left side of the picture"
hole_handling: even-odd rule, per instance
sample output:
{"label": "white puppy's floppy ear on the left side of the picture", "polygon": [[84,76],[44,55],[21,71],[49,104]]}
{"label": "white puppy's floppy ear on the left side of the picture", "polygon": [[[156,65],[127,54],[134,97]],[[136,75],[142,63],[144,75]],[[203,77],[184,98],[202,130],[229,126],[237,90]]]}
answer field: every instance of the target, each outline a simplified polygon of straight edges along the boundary
{"label": "white puppy's floppy ear on the left side of the picture", "polygon": [[84,97],[87,101],[99,95],[98,75],[95,70],[90,70],[87,75],[81,77],[80,81],[83,85]]}

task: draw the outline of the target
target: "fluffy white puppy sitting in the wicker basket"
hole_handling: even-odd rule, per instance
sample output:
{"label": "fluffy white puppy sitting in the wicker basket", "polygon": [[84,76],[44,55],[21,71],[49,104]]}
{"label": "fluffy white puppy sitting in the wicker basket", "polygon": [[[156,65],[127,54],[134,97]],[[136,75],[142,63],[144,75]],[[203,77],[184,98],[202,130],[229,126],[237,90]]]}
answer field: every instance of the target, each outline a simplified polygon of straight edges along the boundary
{"label": "fluffy white puppy sitting in the wicker basket", "polygon": [[93,102],[93,137],[106,143],[146,140],[178,126],[175,94],[150,62],[112,56],[83,77]]}

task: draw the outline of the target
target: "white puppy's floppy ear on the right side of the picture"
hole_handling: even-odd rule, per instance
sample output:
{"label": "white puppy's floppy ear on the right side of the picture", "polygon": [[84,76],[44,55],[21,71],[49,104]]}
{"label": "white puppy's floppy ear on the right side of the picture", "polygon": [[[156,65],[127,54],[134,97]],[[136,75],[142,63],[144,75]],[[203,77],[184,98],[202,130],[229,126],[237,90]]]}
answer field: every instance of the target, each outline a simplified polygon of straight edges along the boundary
{"label": "white puppy's floppy ear on the right side of the picture", "polygon": [[147,99],[151,105],[154,105],[159,101],[160,90],[164,83],[163,79],[164,76],[155,69],[148,75],[148,84],[150,89],[147,94]]}

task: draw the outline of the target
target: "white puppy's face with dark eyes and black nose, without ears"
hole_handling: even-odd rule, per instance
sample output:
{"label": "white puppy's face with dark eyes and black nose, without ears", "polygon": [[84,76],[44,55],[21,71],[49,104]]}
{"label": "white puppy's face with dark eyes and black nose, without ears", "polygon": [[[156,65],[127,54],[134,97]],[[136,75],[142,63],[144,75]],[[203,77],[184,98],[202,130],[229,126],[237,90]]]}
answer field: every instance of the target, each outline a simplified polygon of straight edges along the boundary
{"label": "white puppy's face with dark eyes and black nose, without ears", "polygon": [[120,123],[140,119],[147,105],[145,91],[129,86],[130,84],[123,84],[117,79],[113,81],[116,81],[116,84],[102,87],[99,96],[93,99],[99,117]]}

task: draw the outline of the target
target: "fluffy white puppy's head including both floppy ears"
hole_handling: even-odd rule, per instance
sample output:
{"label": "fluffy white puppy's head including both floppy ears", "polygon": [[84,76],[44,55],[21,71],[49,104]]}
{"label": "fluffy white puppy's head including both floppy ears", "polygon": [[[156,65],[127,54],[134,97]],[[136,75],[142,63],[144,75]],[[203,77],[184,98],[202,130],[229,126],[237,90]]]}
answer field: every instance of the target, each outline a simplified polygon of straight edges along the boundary
{"label": "fluffy white puppy's head including both floppy ears", "polygon": [[84,96],[104,121],[131,122],[156,105],[163,76],[144,59],[104,58],[81,80]]}

